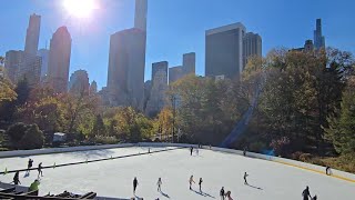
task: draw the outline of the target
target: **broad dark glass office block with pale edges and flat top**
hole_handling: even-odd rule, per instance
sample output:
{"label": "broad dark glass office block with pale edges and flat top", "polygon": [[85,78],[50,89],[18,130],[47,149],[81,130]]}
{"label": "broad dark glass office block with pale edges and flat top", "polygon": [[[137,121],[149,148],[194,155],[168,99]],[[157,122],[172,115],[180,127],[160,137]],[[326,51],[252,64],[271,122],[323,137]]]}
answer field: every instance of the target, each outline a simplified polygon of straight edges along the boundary
{"label": "broad dark glass office block with pale edges and flat top", "polygon": [[207,30],[205,33],[205,76],[237,78],[243,68],[245,27],[233,23]]}

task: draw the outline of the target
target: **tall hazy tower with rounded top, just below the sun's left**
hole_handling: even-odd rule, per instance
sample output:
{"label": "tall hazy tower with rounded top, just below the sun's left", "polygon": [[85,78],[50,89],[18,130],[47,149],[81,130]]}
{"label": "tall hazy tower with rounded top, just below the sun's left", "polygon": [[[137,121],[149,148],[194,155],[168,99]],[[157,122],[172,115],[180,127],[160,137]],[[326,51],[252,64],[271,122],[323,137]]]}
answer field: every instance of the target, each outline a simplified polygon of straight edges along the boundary
{"label": "tall hazy tower with rounded top, just below the sun's left", "polygon": [[70,54],[70,33],[67,27],[60,27],[51,39],[47,79],[55,92],[68,91]]}

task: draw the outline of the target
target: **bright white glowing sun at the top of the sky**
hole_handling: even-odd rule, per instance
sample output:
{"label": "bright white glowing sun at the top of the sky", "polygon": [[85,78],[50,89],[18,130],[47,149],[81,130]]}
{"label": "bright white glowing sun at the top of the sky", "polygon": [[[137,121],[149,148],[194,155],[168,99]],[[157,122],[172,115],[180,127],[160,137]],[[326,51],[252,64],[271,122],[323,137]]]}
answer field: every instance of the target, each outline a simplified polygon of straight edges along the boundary
{"label": "bright white glowing sun at the top of the sky", "polygon": [[63,0],[63,7],[75,18],[89,18],[98,9],[94,0]]}

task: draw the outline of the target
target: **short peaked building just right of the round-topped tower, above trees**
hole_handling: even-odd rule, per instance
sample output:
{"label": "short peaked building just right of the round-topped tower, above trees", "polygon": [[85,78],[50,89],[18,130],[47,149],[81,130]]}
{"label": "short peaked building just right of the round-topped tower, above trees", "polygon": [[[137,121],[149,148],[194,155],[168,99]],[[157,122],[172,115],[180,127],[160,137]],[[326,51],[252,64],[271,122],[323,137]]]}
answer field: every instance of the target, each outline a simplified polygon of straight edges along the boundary
{"label": "short peaked building just right of the round-topped tower, above trees", "polygon": [[85,70],[77,70],[70,76],[69,92],[89,94],[89,74]]}

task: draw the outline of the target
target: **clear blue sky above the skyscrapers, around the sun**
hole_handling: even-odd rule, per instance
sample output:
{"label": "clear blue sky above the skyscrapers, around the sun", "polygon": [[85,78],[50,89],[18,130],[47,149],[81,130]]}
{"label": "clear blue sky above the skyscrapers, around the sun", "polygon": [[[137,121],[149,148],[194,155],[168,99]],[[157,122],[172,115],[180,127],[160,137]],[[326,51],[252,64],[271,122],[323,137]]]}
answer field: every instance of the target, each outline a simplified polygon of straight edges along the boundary
{"label": "clear blue sky above the skyscrapers, around the sun", "polygon": [[[62,0],[1,0],[0,54],[24,48],[29,16],[42,16],[40,48],[67,26],[72,36],[70,72],[84,69],[99,88],[106,84],[110,34],[133,27],[134,0],[97,0],[100,8],[87,20],[63,9]],[[355,53],[353,0],[149,0],[145,79],[151,64],[182,63],[182,54],[196,52],[196,72],[204,74],[204,32],[243,22],[263,38],[263,54],[272,48],[294,48],[313,39],[315,19],[323,20],[326,44]]]}

